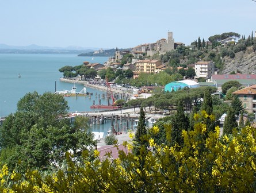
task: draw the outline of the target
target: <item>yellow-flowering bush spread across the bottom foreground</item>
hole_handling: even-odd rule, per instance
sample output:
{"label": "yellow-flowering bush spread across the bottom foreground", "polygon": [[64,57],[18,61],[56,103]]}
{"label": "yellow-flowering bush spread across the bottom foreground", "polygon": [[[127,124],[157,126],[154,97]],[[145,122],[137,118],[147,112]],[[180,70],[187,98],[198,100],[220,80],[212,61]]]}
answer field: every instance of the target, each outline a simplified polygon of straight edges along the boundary
{"label": "yellow-flowering bush spread across the bottom foreground", "polygon": [[247,126],[220,138],[220,128],[207,132],[201,116],[211,118],[195,114],[194,130],[182,130],[182,146],[157,145],[148,135],[150,146],[142,146],[139,155],[117,147],[118,159],[108,153],[107,159],[100,160],[95,150],[93,159],[85,152],[83,163],[75,163],[67,153],[67,167],[48,175],[38,171],[21,175],[2,165],[0,191],[255,192],[256,129]]}

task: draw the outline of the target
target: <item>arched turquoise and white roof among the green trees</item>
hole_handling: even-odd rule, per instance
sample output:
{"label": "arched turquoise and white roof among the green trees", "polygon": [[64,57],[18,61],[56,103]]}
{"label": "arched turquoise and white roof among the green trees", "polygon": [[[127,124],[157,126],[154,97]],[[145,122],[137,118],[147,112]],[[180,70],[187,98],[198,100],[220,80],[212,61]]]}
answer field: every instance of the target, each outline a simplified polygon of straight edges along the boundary
{"label": "arched turquoise and white roof among the green trees", "polygon": [[165,92],[169,91],[177,91],[179,89],[182,89],[184,87],[189,87],[189,88],[197,88],[199,87],[199,84],[195,82],[194,80],[180,80],[180,81],[175,81],[166,84],[165,86]]}

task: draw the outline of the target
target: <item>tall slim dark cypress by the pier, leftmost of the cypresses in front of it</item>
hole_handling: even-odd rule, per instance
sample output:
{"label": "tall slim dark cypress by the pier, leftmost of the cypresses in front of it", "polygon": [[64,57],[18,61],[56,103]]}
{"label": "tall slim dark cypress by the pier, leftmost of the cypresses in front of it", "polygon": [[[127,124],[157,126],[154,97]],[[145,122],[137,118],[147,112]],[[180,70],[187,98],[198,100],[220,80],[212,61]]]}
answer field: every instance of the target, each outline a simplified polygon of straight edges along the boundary
{"label": "tall slim dark cypress by the pier, leftmost of the cypresses in front of it", "polygon": [[145,113],[143,111],[143,107],[140,107],[140,118],[137,125],[136,133],[135,133],[135,148],[133,149],[133,153],[139,155],[140,148],[144,146],[146,148],[148,146],[148,142],[146,140],[147,129],[145,123]]}

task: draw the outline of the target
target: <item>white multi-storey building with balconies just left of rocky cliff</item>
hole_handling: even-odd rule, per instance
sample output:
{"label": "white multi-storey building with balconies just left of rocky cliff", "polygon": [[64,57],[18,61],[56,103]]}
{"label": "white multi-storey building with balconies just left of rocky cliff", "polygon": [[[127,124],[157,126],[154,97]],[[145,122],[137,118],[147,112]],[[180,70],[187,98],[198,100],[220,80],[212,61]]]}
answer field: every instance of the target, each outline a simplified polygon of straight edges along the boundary
{"label": "white multi-storey building with balconies just left of rocky cliff", "polygon": [[215,71],[215,65],[212,61],[198,61],[194,64],[195,78],[211,78]]}

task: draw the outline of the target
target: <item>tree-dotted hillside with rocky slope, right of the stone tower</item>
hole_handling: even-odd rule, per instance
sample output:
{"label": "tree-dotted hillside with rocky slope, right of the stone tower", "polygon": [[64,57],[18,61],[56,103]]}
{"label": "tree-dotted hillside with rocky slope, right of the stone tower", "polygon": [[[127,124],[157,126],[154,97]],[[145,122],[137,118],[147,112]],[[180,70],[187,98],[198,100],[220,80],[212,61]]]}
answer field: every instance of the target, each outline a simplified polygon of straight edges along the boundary
{"label": "tree-dotted hillside with rocky slope, right of the stone tower", "polygon": [[[210,38],[209,38],[210,39]],[[213,61],[219,74],[256,74],[256,38],[241,38],[238,42],[222,44],[221,40],[199,44],[195,41],[189,47],[181,46],[154,55],[150,59],[161,60],[167,67],[187,67],[197,61]]]}

